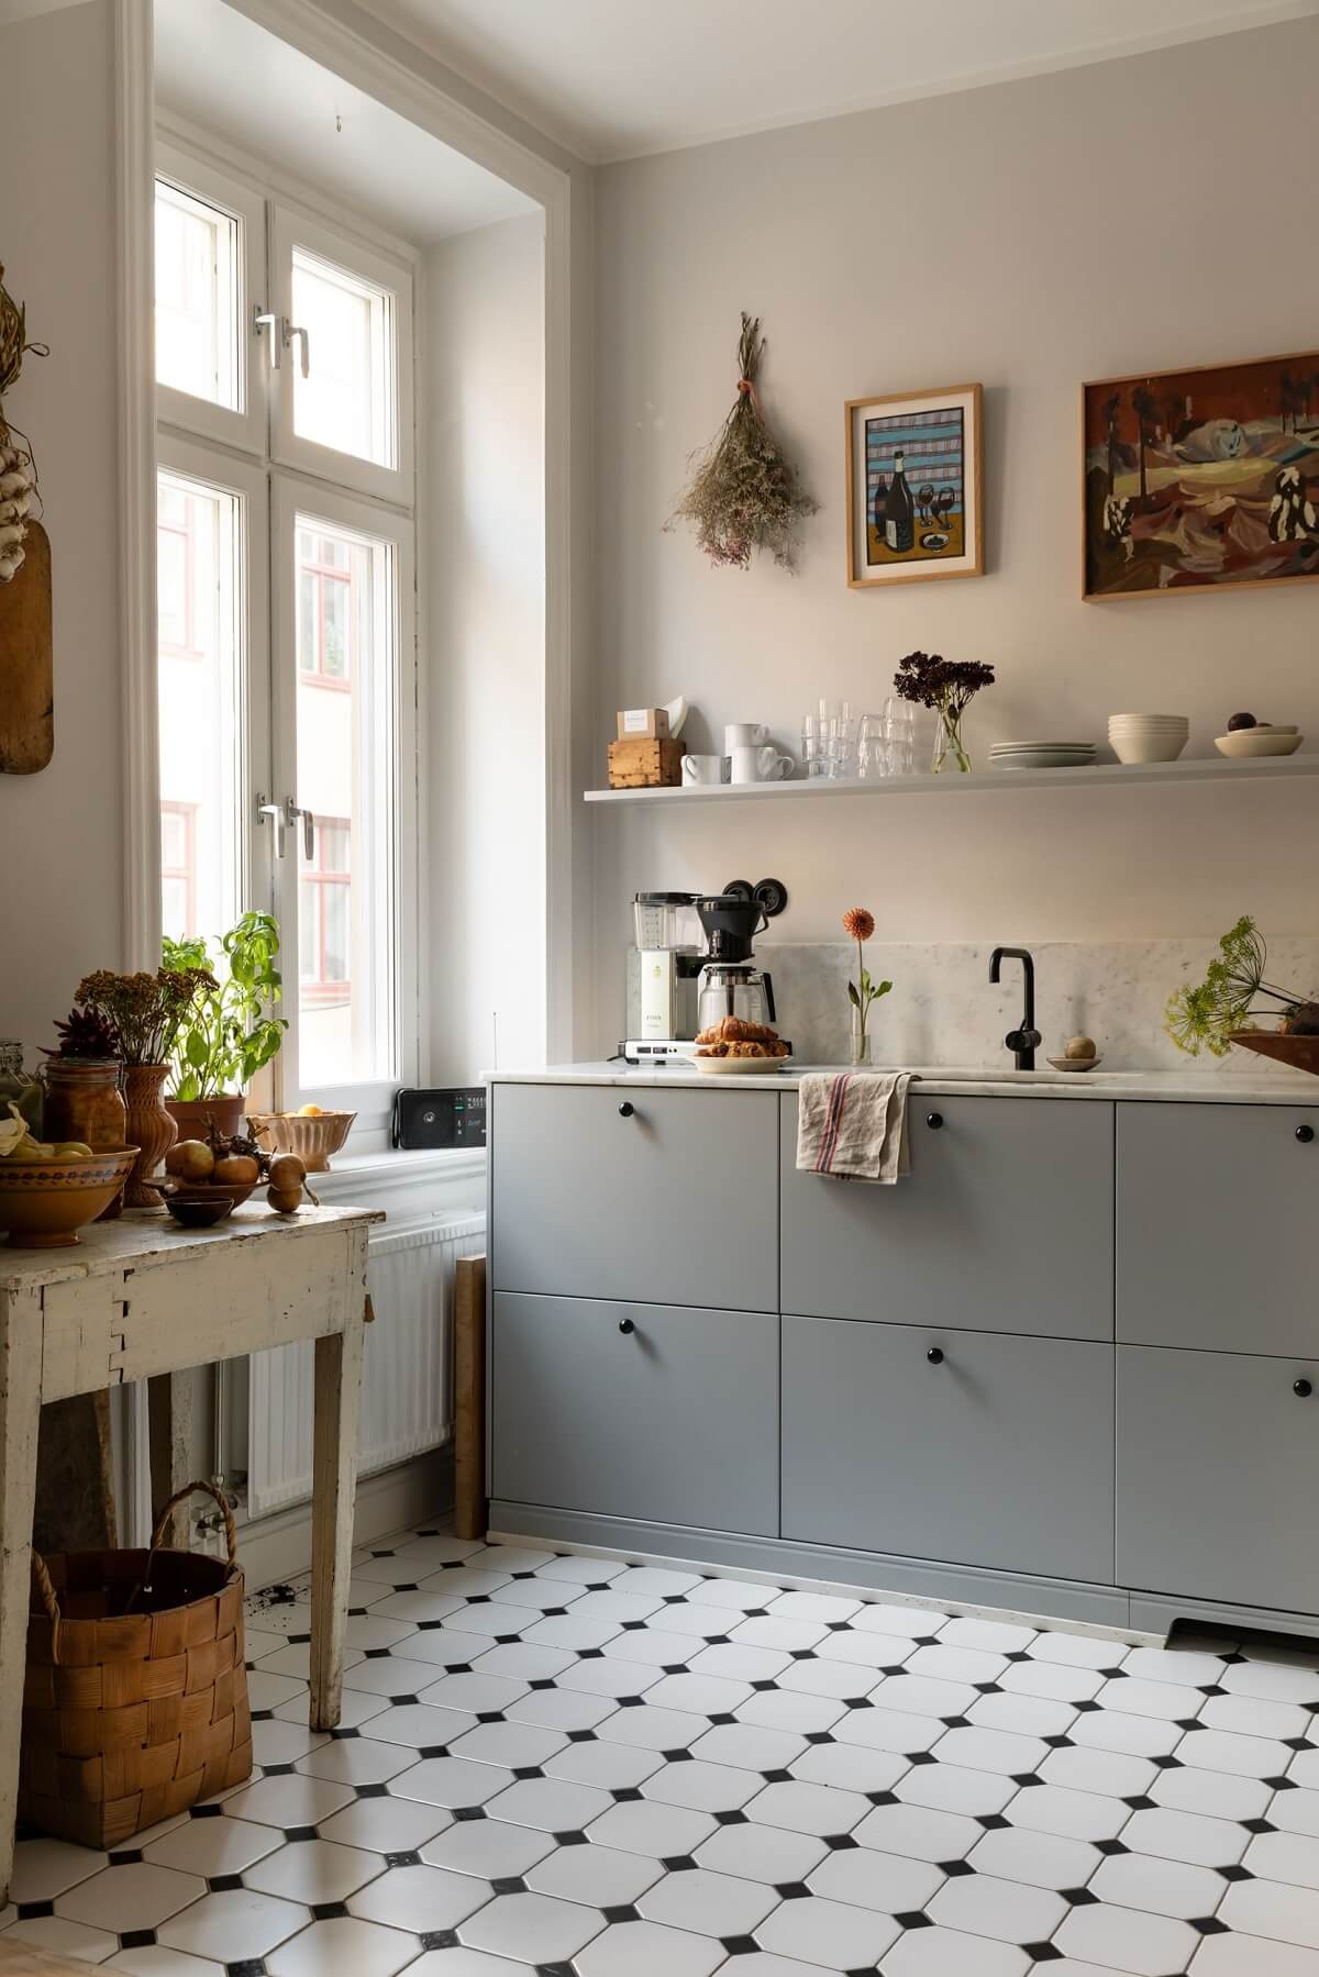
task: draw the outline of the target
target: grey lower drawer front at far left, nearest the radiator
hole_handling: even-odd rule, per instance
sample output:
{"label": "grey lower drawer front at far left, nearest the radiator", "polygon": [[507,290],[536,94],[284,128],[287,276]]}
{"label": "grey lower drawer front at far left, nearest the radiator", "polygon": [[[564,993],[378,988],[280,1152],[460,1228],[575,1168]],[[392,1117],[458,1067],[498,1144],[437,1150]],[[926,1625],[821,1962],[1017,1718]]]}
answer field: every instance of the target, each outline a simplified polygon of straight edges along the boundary
{"label": "grey lower drawer front at far left, nearest the radiator", "polygon": [[775,1536],[779,1321],[763,1311],[492,1301],[494,1495]]}

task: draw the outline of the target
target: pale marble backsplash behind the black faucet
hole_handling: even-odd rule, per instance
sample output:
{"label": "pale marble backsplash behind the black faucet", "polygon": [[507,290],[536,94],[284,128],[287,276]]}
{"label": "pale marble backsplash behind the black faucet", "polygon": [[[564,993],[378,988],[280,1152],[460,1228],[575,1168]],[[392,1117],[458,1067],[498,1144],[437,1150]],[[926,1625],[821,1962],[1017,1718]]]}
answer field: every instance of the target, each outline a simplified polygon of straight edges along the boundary
{"label": "pale marble backsplash behind the black faucet", "polygon": [[[1036,1028],[1040,1058],[1062,1056],[1070,1036],[1094,1036],[1113,1072],[1188,1068],[1192,1062],[1163,1028],[1169,994],[1200,981],[1214,953],[1212,939],[1173,941],[1038,941],[1034,955]],[[894,988],[870,1012],[876,1064],[1011,1064],[1003,1038],[1020,1020],[1020,963],[1005,961],[1003,981],[989,981],[989,945],[868,941],[866,965]],[[799,1062],[838,1064],[848,1056],[850,1006],[846,979],[856,969],[850,941],[795,945],[761,941],[755,951],[773,977],[777,1028],[791,1038]],[[1319,937],[1270,941],[1270,981],[1319,992]],[[637,957],[627,963],[627,1034],[637,1024]],[[1202,1070],[1222,1075],[1256,1072],[1244,1052]]]}

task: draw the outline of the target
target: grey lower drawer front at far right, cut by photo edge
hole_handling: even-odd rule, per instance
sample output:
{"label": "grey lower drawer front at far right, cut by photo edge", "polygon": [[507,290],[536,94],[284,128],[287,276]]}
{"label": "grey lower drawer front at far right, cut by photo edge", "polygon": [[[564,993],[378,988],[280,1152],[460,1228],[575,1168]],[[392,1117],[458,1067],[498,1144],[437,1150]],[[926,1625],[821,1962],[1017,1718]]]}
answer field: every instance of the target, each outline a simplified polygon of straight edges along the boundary
{"label": "grey lower drawer front at far right, cut by photo edge", "polygon": [[1117,1346],[1121,1586],[1319,1613],[1315,1504],[1319,1360]]}

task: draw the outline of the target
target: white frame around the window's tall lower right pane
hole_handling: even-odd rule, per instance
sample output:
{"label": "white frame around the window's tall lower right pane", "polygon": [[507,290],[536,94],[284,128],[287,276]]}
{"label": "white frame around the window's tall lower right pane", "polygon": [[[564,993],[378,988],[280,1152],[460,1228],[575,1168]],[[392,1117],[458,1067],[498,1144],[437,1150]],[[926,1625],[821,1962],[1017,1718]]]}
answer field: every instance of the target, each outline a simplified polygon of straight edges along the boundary
{"label": "white frame around the window's tall lower right pane", "polygon": [[[299,1077],[299,834],[287,832],[285,856],[275,872],[275,913],[281,927],[285,975],[285,1016],[289,1034],[275,1060],[275,1085],[283,1111],[297,1111],[326,1097],[336,1109],[356,1111],[354,1137],[376,1139],[390,1125],[394,1093],[417,1081],[421,1006],[417,985],[417,556],[411,516],[312,482],[303,474],[271,476],[271,571],[273,571],[273,763],[275,789],[297,793],[297,518],[312,516],[330,526],[388,542],[394,550],[396,589],[396,680],[394,733],[390,735],[390,783],[394,817],[394,1008],[390,1026],[396,1044],[394,1074],[382,1079],[303,1085]],[[297,795],[293,799],[299,801]],[[354,846],[354,878],[360,848]],[[384,1143],[384,1141],[380,1141]]]}

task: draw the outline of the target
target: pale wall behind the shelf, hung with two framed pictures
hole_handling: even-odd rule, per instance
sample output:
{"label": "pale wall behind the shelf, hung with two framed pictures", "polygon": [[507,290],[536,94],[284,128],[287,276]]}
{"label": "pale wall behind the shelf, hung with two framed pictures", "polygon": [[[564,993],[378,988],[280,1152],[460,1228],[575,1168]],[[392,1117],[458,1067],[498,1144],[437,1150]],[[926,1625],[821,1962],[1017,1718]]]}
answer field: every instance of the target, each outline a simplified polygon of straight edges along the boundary
{"label": "pale wall behind the shelf, hung with two framed pictures", "polygon": [[[1103,737],[1115,710],[1301,722],[1319,747],[1319,585],[1080,601],[1078,384],[1315,348],[1313,229],[1270,186],[1305,20],[937,101],[605,168],[597,180],[597,706],[682,692],[718,733],[797,749],[823,692],[874,708],[922,646],[989,658],[971,749]],[[763,316],[763,397],[821,514],[801,573],[710,569],[660,534],[734,389],[738,310]],[[979,378],[989,575],[848,591],[842,401]],[[696,728],[692,745],[702,745]],[[595,815],[597,1040],[619,1036],[639,886],[783,878],[785,939],[1315,929],[1315,785],[821,803],[803,815]],[[589,969],[583,973],[591,973]]]}

